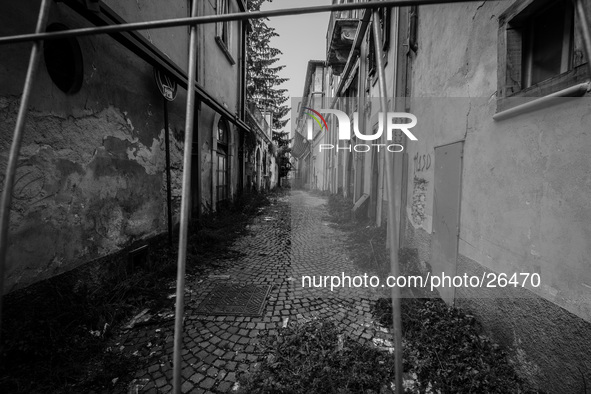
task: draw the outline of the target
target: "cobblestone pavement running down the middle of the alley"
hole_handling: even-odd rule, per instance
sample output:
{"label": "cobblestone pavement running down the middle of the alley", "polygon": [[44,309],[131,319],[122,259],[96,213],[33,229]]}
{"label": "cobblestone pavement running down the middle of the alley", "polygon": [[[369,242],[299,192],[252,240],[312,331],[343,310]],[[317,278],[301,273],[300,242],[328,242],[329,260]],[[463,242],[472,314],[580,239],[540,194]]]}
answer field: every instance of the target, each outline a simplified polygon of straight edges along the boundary
{"label": "cobblestone pavement running down the middle of the alley", "polygon": [[[211,275],[187,280],[183,350],[185,393],[226,393],[258,361],[261,338],[276,335],[286,319],[332,318],[361,342],[385,337],[371,319],[370,305],[383,289],[303,288],[302,276],[366,272],[347,255],[346,233],[327,221],[326,199],[302,191],[277,198],[233,245],[240,257],[220,262]],[[369,272],[368,272],[369,273]],[[272,285],[262,317],[205,316],[197,306],[219,283]],[[170,317],[170,316],[168,316]],[[115,351],[149,353],[156,360],[137,371],[138,393],[172,390],[173,322],[137,327],[118,338]],[[121,386],[121,387],[118,387]],[[115,385],[111,392],[128,392]]]}

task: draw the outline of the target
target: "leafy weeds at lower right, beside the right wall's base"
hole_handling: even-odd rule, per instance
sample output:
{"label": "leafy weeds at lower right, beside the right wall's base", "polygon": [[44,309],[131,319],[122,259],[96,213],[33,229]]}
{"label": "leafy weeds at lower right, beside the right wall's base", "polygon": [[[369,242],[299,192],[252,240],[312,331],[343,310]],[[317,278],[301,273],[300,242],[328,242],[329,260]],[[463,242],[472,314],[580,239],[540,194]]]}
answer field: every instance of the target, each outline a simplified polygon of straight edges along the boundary
{"label": "leafy weeds at lower right, beside the right wall's base", "polygon": [[[405,370],[417,375],[417,388],[441,393],[532,393],[507,356],[476,319],[440,299],[402,299]],[[381,298],[372,313],[392,325],[392,303]]]}

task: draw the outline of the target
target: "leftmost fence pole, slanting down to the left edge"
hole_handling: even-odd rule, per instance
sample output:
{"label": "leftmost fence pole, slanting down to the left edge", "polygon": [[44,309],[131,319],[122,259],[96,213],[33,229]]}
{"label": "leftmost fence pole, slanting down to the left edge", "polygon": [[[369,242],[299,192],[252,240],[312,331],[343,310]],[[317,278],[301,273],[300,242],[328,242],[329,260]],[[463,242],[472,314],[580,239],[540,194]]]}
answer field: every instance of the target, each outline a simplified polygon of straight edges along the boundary
{"label": "leftmost fence pole, slanting down to the left edge", "polygon": [[[45,30],[47,24],[47,17],[49,15],[50,0],[43,0],[39,8],[39,17],[37,18],[36,33],[41,33]],[[25,77],[25,86],[23,88],[23,95],[21,97],[21,105],[18,110],[16,118],[16,125],[14,127],[14,134],[12,136],[12,145],[10,146],[10,154],[8,156],[8,163],[6,164],[6,177],[4,178],[4,189],[2,190],[2,197],[0,200],[0,332],[2,328],[2,296],[4,295],[4,272],[6,269],[6,253],[8,251],[8,231],[10,224],[10,204],[12,202],[12,188],[14,186],[14,174],[18,163],[18,156],[20,152],[21,142],[25,129],[25,121],[27,117],[27,110],[29,107],[29,98],[31,97],[31,90],[33,89],[33,81],[37,73],[37,66],[39,65],[39,57],[43,49],[43,41],[35,41],[31,49],[31,56],[29,58],[29,67]]]}

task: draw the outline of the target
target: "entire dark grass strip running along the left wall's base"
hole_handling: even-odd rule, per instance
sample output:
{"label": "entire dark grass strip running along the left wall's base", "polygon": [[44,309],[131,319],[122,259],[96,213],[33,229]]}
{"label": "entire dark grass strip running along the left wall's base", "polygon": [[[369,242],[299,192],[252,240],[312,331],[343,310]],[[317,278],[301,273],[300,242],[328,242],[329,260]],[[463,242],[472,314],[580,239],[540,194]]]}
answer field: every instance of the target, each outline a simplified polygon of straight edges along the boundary
{"label": "entire dark grass strip running along the left wall's base", "polygon": [[[187,273],[211,266],[242,233],[264,194],[245,196],[191,225]],[[176,237],[175,237],[176,238]],[[127,251],[13,292],[4,299],[0,392],[88,392],[137,369],[137,359],[106,351],[113,330],[144,308],[172,307],[177,242],[150,242],[148,262],[128,269]]]}

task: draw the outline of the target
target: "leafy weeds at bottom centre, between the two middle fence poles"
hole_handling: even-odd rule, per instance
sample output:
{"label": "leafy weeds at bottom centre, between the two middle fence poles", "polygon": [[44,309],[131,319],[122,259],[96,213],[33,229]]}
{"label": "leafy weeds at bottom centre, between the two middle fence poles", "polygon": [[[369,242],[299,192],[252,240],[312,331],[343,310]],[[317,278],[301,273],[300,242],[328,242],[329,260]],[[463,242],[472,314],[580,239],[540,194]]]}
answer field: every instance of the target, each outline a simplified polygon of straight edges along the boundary
{"label": "leafy weeds at bottom centre, between the two middle fence poles", "polygon": [[394,380],[387,353],[341,336],[328,320],[282,329],[241,381],[243,393],[381,393]]}

